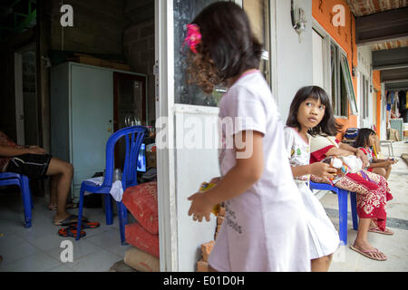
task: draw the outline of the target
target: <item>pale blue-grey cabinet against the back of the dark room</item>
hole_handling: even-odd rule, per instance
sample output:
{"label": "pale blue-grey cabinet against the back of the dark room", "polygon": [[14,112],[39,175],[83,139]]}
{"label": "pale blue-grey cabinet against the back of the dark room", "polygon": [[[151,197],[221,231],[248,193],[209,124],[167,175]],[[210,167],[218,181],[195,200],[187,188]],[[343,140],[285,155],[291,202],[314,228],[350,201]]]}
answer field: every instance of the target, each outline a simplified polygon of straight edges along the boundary
{"label": "pale blue-grey cabinet against the back of the dark room", "polygon": [[73,198],[84,179],[105,167],[106,142],[115,129],[115,72],[81,63],[52,68],[51,154],[73,164]]}

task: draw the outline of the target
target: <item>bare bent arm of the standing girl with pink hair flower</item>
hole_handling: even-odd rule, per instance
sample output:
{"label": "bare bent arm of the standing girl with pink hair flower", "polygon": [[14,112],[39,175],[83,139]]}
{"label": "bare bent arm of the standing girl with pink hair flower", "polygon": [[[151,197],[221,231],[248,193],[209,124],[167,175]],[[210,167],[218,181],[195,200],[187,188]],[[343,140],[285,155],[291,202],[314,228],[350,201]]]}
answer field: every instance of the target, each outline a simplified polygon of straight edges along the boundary
{"label": "bare bent arm of the standing girl with pink hair flower", "polygon": [[[190,196],[188,199],[192,202],[189,216],[194,215],[199,221],[205,217],[209,221],[209,215],[215,205],[241,195],[260,179],[264,170],[263,135],[257,131],[241,131],[238,134],[242,134],[242,138],[238,140],[242,140],[244,146],[237,146],[234,142],[236,153],[249,151],[252,154],[246,159],[237,158],[236,165],[219,180],[217,186]],[[248,138],[250,134],[252,141]]]}

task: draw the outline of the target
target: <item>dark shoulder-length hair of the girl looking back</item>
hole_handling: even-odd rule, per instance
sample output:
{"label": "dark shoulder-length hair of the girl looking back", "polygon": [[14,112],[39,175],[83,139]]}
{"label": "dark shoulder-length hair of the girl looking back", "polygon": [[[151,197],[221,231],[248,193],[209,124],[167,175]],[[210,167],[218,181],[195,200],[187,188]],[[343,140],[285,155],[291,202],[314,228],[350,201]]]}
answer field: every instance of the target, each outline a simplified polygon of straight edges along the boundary
{"label": "dark shoulder-length hair of the girl looking back", "polygon": [[300,104],[305,102],[307,98],[320,100],[322,105],[325,106],[325,115],[323,116],[322,121],[320,121],[316,127],[310,129],[308,131],[309,134],[315,136],[323,133],[327,136],[335,136],[342,130],[343,125],[335,121],[335,113],[333,112],[330,98],[325,90],[316,85],[303,87],[296,92],[295,98],[290,104],[287,126],[297,128],[297,130],[300,131],[301,126],[297,121],[297,111],[299,111]]}

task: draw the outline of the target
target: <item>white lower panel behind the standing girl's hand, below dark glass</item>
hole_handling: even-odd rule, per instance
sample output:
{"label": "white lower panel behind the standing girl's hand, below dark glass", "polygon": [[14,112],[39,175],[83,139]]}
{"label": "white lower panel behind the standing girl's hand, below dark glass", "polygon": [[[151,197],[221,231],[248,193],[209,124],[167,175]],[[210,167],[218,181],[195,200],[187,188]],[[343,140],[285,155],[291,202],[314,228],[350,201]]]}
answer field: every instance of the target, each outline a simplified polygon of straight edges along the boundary
{"label": "white lower panel behind the standing girl's hand, below dark glass", "polygon": [[193,221],[187,198],[198,191],[201,182],[220,175],[218,115],[219,108],[175,104],[179,271],[196,271],[200,245],[214,239],[217,227],[213,215],[209,222]]}

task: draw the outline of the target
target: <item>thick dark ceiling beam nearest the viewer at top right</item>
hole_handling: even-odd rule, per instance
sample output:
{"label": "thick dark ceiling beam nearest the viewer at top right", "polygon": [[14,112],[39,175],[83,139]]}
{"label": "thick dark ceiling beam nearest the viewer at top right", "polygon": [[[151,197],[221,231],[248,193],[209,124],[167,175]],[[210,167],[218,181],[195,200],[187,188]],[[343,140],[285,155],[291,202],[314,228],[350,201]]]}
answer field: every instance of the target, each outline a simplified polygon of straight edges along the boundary
{"label": "thick dark ceiling beam nearest the viewer at top right", "polygon": [[355,43],[374,44],[408,37],[408,7],[355,18]]}

